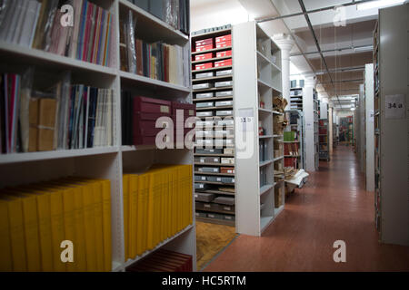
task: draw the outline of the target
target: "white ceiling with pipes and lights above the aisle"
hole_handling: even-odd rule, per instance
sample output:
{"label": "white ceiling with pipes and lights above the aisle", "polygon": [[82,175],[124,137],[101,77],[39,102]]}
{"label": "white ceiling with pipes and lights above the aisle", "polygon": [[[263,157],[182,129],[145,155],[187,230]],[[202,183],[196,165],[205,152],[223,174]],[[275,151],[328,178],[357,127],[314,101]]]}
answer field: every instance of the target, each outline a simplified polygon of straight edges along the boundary
{"label": "white ceiling with pipes and lights above the aisle", "polygon": [[[352,0],[304,0],[304,6],[308,11],[350,2]],[[302,9],[298,0],[191,0],[192,31],[300,12]],[[309,14],[314,33],[323,51],[350,48],[341,52],[324,53],[330,71],[362,67],[365,63],[372,63],[372,51],[358,53],[354,51],[354,47],[372,45],[377,14],[377,9],[362,11],[357,10],[356,5],[346,6],[338,11],[328,10]],[[359,81],[363,79],[362,70],[328,74],[318,53],[300,55],[317,52],[304,15],[264,22],[261,26],[272,36],[274,34],[293,36],[296,45],[291,51],[293,55],[291,62],[301,73],[318,73],[317,90],[322,95],[330,96],[330,100],[336,95],[349,95],[350,102],[351,95],[359,93],[359,85],[363,83]],[[334,83],[330,82],[330,76]],[[349,82],[351,80],[354,82]]]}

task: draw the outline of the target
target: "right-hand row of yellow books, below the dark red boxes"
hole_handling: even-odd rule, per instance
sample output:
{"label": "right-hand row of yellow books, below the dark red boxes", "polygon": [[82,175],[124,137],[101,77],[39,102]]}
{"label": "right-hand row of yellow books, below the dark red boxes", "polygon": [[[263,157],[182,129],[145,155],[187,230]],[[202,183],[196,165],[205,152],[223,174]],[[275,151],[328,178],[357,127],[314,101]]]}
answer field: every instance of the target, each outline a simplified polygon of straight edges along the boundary
{"label": "right-hand row of yellow books, below the dark red boxes", "polygon": [[155,165],[124,174],[125,260],[192,225],[192,172],[191,165]]}

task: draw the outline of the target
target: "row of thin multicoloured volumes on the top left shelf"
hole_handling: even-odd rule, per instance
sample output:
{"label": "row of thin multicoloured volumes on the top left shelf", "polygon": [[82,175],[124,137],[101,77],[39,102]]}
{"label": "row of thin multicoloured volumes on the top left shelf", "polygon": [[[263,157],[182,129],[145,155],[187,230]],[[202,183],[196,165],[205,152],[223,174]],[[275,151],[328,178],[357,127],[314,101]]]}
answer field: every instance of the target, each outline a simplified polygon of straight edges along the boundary
{"label": "row of thin multicoloured volumes on the top left shelf", "polygon": [[66,2],[73,6],[75,20],[64,26],[65,1],[3,1],[0,40],[111,66],[114,15],[86,0]]}

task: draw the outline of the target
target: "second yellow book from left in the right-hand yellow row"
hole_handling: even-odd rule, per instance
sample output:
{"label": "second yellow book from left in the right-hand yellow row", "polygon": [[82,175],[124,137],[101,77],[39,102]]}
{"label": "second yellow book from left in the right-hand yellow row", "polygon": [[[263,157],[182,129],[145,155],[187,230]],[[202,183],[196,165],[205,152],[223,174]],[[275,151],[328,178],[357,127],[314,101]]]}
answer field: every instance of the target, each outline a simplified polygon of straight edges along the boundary
{"label": "second yellow book from left in the right-hand yellow row", "polygon": [[131,174],[129,176],[129,255],[131,258],[136,257],[136,227],[137,227],[137,198],[138,198],[138,176]]}

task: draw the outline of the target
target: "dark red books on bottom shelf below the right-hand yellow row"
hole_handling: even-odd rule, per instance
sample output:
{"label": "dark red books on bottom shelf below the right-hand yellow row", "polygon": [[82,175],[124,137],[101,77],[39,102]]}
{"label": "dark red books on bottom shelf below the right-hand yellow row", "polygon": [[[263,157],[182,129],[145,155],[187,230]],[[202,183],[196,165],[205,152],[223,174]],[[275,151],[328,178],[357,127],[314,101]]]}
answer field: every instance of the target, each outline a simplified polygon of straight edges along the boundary
{"label": "dark red books on bottom shelf below the right-hand yellow row", "polygon": [[159,249],[142,261],[126,268],[127,272],[192,272],[192,256]]}

